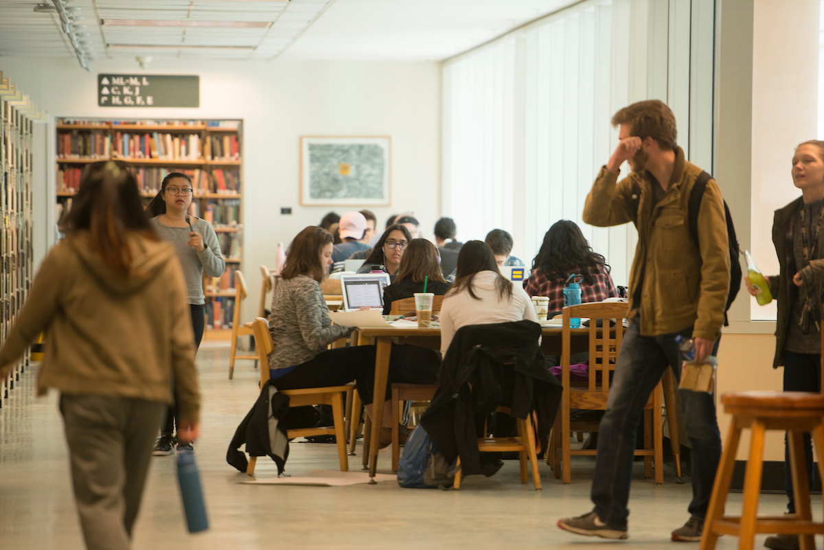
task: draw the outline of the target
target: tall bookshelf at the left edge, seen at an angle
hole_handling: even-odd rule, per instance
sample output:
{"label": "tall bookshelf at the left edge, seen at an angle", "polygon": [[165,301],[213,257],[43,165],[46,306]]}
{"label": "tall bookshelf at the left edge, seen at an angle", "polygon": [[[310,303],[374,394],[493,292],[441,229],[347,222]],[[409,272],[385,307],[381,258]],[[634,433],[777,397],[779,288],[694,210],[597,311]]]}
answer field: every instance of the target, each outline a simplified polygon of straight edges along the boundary
{"label": "tall bookshelf at the left edge, seen at an angle", "polygon": [[[0,95],[0,343],[6,341],[9,329],[26,302],[34,273],[31,225],[31,135],[34,122],[21,114],[11,101],[6,100],[7,97],[14,99]],[[0,407],[29,362],[30,352],[27,351],[12,375],[2,381]]]}

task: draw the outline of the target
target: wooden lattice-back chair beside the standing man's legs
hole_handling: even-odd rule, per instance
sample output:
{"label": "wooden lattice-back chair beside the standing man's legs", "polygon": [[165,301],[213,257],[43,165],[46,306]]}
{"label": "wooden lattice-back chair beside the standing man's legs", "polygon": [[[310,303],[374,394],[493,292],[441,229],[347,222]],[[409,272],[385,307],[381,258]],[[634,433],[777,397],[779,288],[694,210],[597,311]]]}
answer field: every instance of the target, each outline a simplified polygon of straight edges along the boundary
{"label": "wooden lattice-back chair beside the standing man's legs", "polygon": [[[561,385],[564,394],[560,410],[555,417],[546,462],[552,466],[556,478],[569,483],[570,458],[575,454],[594,455],[596,450],[572,450],[569,437],[572,431],[597,431],[593,422],[573,422],[570,419],[572,409],[605,410],[609,398],[611,372],[615,371],[616,358],[620,352],[624,331],[623,321],[629,314],[625,303],[592,303],[571,305],[563,311],[564,325],[561,334]],[[586,385],[573,385],[569,382],[569,356],[571,329],[569,321],[573,317],[588,317],[589,325],[589,380]],[[602,321],[602,328],[597,327],[597,320]],[[616,326],[610,327],[610,319],[615,319]],[[597,374],[601,373],[600,387]],[[663,434],[661,415],[662,389],[659,382],[649,396],[644,410],[644,449],[635,450],[635,455],[644,456],[644,476],[652,475],[652,459],[655,460],[655,482],[663,483]]]}

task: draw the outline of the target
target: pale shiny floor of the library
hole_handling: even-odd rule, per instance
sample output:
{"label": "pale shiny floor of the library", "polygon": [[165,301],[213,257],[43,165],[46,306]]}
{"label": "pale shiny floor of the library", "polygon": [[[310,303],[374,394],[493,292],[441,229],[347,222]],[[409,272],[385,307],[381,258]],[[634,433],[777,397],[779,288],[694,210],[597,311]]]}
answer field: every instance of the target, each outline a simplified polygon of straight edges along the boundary
{"label": "pale shiny floor of the library", "polygon": [[[246,479],[226,463],[226,450],[238,422],[254,402],[257,371],[238,361],[234,380],[227,380],[228,348],[204,343],[199,352],[204,395],[201,438],[195,449],[203,476],[212,528],[191,536],[176,487],[175,460],[152,460],[143,508],[135,529],[135,550],[181,548],[672,548],[669,534],[687,520],[691,487],[676,485],[671,471],[656,486],[643,478],[636,463],[630,500],[630,539],[623,543],[583,538],[560,531],[562,516],[591,510],[589,478],[592,459],[576,457],[573,482],[563,485],[541,464],[543,491],[522,485],[516,461],[508,461],[494,478],[472,476],[460,491],[402,489],[396,482],[375,486],[283,487],[239,484]],[[0,409],[0,548],[75,550],[83,548],[68,473],[63,425],[57,394],[34,397],[35,371],[21,376],[20,387]],[[358,456],[350,469],[359,471]],[[379,471],[389,473],[388,450]],[[312,469],[338,468],[335,445],[293,442],[287,471],[293,476]],[[275,477],[277,468],[264,458],[258,478]],[[817,497],[816,497],[817,498]],[[761,497],[763,513],[784,510],[783,495]],[[728,510],[740,510],[739,495]],[[820,519],[822,507],[813,505]],[[761,547],[763,538],[756,542]],[[677,545],[679,548],[683,544]],[[736,548],[724,537],[718,548]],[[688,548],[698,548],[697,543]]]}

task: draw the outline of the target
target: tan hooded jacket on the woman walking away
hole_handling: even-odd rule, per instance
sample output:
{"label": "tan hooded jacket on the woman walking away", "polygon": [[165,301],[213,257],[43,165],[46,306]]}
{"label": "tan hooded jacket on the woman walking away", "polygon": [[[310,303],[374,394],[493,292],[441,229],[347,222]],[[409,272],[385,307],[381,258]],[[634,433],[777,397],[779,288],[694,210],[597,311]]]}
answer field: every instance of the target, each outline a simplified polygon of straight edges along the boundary
{"label": "tan hooded jacket on the woman walking away", "polygon": [[174,249],[134,235],[132,274],[102,263],[80,232],[44,259],[0,348],[0,374],[45,332],[38,394],[103,394],[171,403],[198,422],[199,393],[188,295]]}

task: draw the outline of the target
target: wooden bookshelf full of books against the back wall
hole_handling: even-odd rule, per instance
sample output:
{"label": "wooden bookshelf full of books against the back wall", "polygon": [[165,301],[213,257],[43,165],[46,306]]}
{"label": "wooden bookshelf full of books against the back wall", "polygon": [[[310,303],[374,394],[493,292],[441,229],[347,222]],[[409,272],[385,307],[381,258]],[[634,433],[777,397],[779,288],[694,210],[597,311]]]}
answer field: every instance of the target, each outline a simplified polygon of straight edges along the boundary
{"label": "wooden bookshelf full of books against the back wall", "polygon": [[204,277],[204,338],[229,338],[234,273],[243,255],[241,121],[75,118],[58,119],[55,128],[58,220],[71,207],[82,170],[90,162],[129,164],[145,204],[157,195],[166,174],[189,175],[194,187],[190,213],[212,222],[227,263],[222,277]]}

